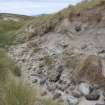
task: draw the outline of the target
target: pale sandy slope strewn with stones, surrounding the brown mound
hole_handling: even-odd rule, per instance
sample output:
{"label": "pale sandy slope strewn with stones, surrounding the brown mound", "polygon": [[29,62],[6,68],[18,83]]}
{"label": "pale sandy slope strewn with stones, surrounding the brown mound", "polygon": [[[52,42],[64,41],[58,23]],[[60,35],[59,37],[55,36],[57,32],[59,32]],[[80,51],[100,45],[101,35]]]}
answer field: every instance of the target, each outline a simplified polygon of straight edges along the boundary
{"label": "pale sandy slope strewn with stones, surrounding the brown mound", "polygon": [[[101,87],[91,87],[89,80],[76,83],[72,79],[72,73],[86,56],[99,56],[105,65],[104,27],[100,30],[87,26],[87,30],[78,29],[80,31],[75,32],[74,24],[76,21],[70,23],[66,19],[56,27],[55,32],[12,46],[9,55],[20,66],[24,81],[46,91],[43,96],[62,99],[67,105],[104,105],[104,90]],[[66,33],[63,32],[65,27]],[[92,63],[90,65],[89,70],[99,67]],[[105,72],[103,65],[101,73]]]}

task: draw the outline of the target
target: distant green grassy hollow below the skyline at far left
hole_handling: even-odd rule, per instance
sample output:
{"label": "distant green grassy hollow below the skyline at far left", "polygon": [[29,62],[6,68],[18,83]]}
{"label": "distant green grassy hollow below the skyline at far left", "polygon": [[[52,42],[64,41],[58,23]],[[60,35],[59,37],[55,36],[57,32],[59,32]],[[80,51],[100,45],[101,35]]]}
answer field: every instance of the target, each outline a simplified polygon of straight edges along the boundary
{"label": "distant green grassy hollow below the skyline at far left", "polygon": [[[15,16],[13,14],[0,14],[0,47],[7,48],[15,40],[15,35],[18,30],[20,30],[30,18],[27,16]],[[4,20],[6,18],[8,20]],[[12,20],[17,19],[17,21]]]}

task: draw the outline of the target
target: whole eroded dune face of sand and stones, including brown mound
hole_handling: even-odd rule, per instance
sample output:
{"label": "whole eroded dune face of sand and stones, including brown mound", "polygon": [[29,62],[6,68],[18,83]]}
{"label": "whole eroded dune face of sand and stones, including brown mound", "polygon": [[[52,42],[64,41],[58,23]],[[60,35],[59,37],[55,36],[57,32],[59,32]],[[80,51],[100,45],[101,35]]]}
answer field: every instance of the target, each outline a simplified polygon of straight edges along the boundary
{"label": "whole eroded dune face of sand and stones, including brown mound", "polygon": [[[101,14],[105,18],[103,10]],[[32,38],[9,50],[22,69],[22,79],[43,87],[53,99],[64,98],[69,105],[77,105],[82,99],[84,104],[80,105],[95,105],[101,95],[94,91],[105,87],[101,63],[104,58],[101,55],[105,53],[105,27],[104,24],[93,22],[98,16],[100,18],[99,10],[82,12],[77,14],[78,18],[71,18],[72,21],[62,20],[55,31],[47,34],[44,34],[48,29],[46,25],[41,26],[43,29],[29,27]],[[37,32],[39,36],[35,35]],[[91,87],[91,84],[98,84],[99,87]],[[85,101],[90,103],[85,104]]]}

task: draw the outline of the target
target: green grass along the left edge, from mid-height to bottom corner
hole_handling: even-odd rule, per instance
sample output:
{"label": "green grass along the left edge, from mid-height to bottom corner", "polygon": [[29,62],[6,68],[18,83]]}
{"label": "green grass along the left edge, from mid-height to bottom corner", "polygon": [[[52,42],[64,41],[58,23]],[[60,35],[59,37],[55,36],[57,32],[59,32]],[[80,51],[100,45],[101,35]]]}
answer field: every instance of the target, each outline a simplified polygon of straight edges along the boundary
{"label": "green grass along the left edge, from mid-height to bottom corner", "polygon": [[20,79],[20,69],[0,49],[0,105],[34,105],[35,91]]}

